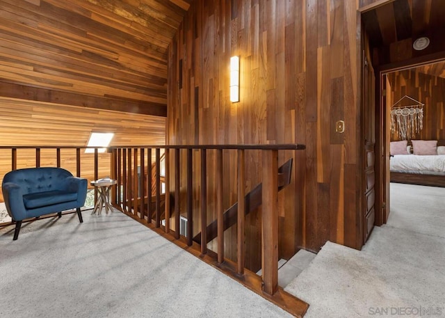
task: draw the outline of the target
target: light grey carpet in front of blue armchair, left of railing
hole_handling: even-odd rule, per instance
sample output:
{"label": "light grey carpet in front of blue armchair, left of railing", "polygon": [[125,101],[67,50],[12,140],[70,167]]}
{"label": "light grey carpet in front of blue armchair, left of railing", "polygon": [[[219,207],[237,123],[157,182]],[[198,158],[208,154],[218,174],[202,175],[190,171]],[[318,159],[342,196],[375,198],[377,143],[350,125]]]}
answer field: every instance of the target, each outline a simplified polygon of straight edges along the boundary
{"label": "light grey carpet in front of blue armchair, left of railing", "polygon": [[0,229],[0,317],[291,317],[120,212]]}

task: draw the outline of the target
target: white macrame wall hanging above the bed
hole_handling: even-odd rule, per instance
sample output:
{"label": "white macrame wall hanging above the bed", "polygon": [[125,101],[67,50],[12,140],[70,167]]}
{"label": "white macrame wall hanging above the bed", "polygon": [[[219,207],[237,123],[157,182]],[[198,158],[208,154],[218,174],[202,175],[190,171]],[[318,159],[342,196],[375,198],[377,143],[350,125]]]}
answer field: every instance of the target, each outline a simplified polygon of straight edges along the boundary
{"label": "white macrame wall hanging above the bed", "polygon": [[[407,105],[402,105],[403,100]],[[396,133],[402,140],[414,138],[423,128],[424,105],[407,95],[398,100],[391,106],[391,133]]]}

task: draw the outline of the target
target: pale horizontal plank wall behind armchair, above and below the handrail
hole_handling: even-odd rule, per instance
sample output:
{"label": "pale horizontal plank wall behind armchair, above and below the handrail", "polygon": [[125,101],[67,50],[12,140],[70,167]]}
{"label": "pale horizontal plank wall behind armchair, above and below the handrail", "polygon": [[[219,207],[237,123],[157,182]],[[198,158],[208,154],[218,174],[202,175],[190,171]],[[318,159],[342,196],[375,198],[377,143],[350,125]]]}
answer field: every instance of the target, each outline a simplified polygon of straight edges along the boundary
{"label": "pale horizontal plank wall behind armchair, above and below the handrail", "polygon": [[[134,113],[122,113],[101,109],[61,104],[42,104],[0,97],[0,145],[2,146],[72,146],[85,147],[91,132],[114,132],[111,146],[147,145],[165,143],[165,118]],[[35,152],[26,149],[16,151],[15,168],[35,167]],[[0,152],[0,182],[11,167],[12,154]],[[79,153],[81,166],[77,167],[76,150],[40,150],[40,166],[61,166],[73,175],[81,171],[88,180],[110,176],[110,154],[99,153],[95,176],[95,156]],[[60,162],[58,162],[60,161]]]}

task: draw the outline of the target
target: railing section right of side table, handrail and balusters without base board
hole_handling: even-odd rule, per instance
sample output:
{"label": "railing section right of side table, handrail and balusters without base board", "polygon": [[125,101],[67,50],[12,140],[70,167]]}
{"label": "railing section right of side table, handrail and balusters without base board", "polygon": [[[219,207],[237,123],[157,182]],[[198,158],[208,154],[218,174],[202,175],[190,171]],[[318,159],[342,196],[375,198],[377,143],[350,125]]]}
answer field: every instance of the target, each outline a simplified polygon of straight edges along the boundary
{"label": "railing section right of side table, handrail and balusters without base board", "polygon": [[[243,276],[245,272],[245,237],[244,237],[244,220],[245,220],[245,152],[259,151],[261,152],[262,169],[258,170],[261,175],[262,182],[262,280],[263,291],[266,294],[273,295],[277,292],[278,282],[278,209],[277,209],[277,177],[278,177],[278,152],[280,150],[301,150],[303,145],[166,145],[166,146],[147,146],[144,148],[115,148],[112,154],[112,166],[115,167],[115,175],[112,177],[118,180],[118,191],[113,197],[113,202],[122,207],[124,212],[131,214],[134,218],[154,225],[165,234],[170,234],[174,239],[180,239],[180,216],[184,214],[187,218],[187,236],[184,237],[187,246],[193,245],[193,184],[195,189],[199,190],[199,207],[195,207],[199,211],[200,232],[202,242],[207,242],[207,200],[208,200],[208,184],[207,180],[215,180],[216,193],[216,221],[217,225],[217,251],[216,258],[218,264],[227,262],[225,258],[225,241],[224,241],[224,224],[223,213],[223,196],[225,191],[223,185],[223,152],[231,152],[229,155],[237,156],[237,182],[236,189],[238,197],[238,217],[237,217],[237,238],[236,238],[236,275]],[[161,206],[161,150],[165,155],[165,210],[162,211]],[[156,193],[156,205],[153,207],[147,204],[147,189],[152,189],[151,178],[138,177],[138,175],[152,175],[152,152],[156,153],[154,166],[156,168],[156,182],[154,185]],[[182,161],[182,155],[186,156]],[[207,157],[209,152],[214,152],[215,174],[209,175],[207,170]],[[195,159],[195,161],[194,161]],[[194,180],[193,163],[198,162],[200,166],[200,180]],[[181,171],[181,166],[185,171]],[[149,171],[145,173],[144,167],[148,167]],[[185,177],[184,174],[185,173]],[[186,202],[185,211],[181,210],[181,175],[184,177],[186,184]],[[174,180],[174,181],[173,181]],[[174,184],[175,189],[170,189],[170,184]],[[227,184],[225,184],[227,186]],[[184,186],[183,186],[184,189]],[[140,193],[145,193],[140,195]],[[213,220],[211,220],[213,221]],[[162,224],[163,223],[163,224]],[[173,223],[173,224],[171,224]],[[209,251],[207,244],[201,244],[201,255],[206,255]],[[215,251],[211,251],[215,252]]]}

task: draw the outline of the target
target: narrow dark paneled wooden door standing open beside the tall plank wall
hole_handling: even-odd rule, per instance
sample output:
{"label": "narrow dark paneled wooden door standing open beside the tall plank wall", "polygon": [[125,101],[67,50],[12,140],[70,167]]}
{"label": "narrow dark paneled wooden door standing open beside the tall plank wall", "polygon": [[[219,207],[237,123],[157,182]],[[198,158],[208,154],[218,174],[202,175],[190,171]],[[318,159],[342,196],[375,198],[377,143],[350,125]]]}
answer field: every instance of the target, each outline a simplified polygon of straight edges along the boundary
{"label": "narrow dark paneled wooden door standing open beside the tall plank wall", "polygon": [[375,75],[364,56],[364,224],[363,241],[369,237],[375,221]]}

